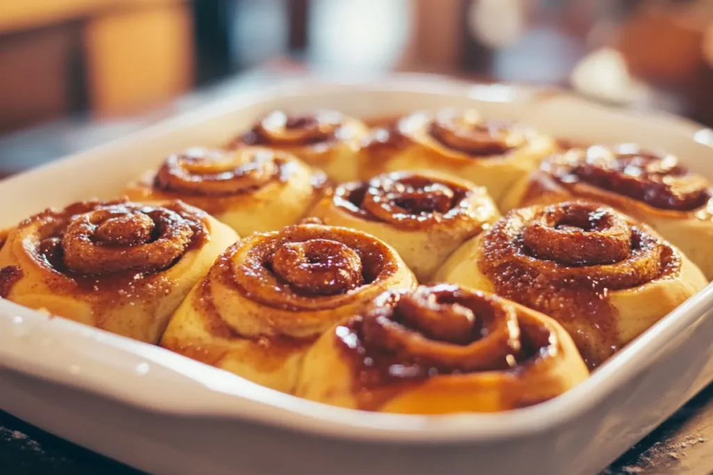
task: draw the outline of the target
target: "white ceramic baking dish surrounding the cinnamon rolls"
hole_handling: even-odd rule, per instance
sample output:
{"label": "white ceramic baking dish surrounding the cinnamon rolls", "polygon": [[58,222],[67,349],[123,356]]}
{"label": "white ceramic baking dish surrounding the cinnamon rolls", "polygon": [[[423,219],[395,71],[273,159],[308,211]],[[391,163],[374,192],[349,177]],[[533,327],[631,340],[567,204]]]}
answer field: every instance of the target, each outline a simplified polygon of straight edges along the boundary
{"label": "white ceramic baking dish surrounding the cinnamon rolls", "polygon": [[[690,122],[561,93],[424,78],[283,86],[175,118],[0,183],[0,226],[112,197],[169,152],[224,142],[270,108],[374,116],[474,105],[558,135],[664,147],[713,179]],[[416,417],[315,404],[166,350],[0,301],[0,408],[155,474],[594,474],[713,380],[709,286],[550,402]]]}

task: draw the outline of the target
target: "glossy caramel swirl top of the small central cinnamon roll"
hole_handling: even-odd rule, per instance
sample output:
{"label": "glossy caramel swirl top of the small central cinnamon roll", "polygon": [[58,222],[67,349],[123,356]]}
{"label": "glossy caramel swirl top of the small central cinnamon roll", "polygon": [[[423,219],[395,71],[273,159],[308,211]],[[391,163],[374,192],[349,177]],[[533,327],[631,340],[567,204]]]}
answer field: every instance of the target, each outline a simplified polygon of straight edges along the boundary
{"label": "glossy caramel swirl top of the small central cinnamon roll", "polygon": [[334,191],[334,204],[361,219],[405,229],[456,219],[478,219],[473,190],[445,178],[418,172],[381,174],[369,182],[345,183]]}

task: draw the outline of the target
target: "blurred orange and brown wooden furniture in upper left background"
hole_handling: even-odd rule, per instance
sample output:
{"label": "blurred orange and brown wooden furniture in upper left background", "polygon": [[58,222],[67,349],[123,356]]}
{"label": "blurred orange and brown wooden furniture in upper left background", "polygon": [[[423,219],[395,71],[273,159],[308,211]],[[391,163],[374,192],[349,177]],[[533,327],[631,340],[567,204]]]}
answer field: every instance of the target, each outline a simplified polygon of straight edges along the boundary
{"label": "blurred orange and brown wooden furniture in upper left background", "polygon": [[[0,132],[138,113],[193,85],[188,0],[0,1]],[[82,95],[83,97],[78,97]]]}

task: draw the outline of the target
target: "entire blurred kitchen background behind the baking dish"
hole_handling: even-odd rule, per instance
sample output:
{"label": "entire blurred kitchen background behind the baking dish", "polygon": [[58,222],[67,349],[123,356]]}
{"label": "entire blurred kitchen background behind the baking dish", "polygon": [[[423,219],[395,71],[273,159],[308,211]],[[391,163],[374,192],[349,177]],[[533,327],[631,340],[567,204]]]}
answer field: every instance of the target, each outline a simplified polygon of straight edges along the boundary
{"label": "entire blurred kitchen background behind the baking dish", "polygon": [[0,173],[305,74],[572,88],[713,125],[713,0],[0,1]]}

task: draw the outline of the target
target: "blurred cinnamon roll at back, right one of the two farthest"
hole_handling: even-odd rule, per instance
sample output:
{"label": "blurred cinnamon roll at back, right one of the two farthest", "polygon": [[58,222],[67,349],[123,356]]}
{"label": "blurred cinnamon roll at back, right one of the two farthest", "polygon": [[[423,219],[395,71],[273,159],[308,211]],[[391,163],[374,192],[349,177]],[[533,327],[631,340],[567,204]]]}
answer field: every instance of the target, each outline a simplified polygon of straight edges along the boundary
{"label": "blurred cinnamon roll at back, right one of the two farthest", "polygon": [[523,125],[487,120],[476,110],[414,113],[369,137],[360,154],[362,178],[433,169],[488,187],[496,203],[556,147],[546,135]]}

